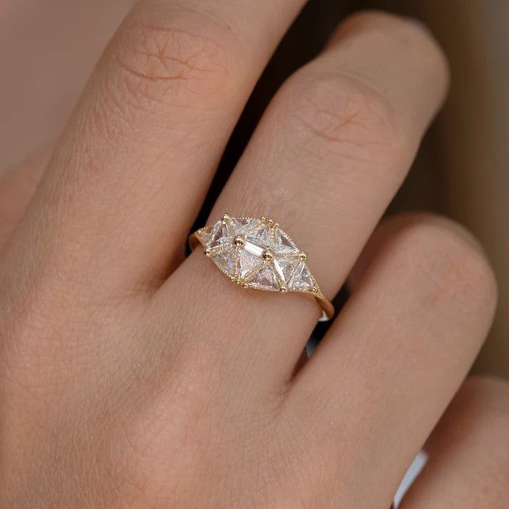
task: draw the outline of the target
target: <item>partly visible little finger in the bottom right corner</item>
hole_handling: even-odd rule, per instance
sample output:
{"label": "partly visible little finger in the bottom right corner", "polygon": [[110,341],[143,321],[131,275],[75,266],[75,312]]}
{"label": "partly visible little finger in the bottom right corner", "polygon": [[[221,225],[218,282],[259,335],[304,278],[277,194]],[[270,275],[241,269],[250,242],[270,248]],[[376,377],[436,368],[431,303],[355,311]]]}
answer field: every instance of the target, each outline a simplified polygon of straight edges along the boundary
{"label": "partly visible little finger in the bottom right corner", "polygon": [[509,507],[509,386],[464,383],[428,440],[429,460],[401,509]]}

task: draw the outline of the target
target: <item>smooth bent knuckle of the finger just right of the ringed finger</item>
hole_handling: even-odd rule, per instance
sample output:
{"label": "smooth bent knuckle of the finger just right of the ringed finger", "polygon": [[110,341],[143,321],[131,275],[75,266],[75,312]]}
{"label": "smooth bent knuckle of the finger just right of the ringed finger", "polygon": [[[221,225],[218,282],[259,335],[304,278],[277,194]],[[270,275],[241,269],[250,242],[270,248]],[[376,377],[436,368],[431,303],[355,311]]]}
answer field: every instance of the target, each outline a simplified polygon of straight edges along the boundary
{"label": "smooth bent knuckle of the finger just right of the ringed finger", "polygon": [[[432,214],[403,214],[397,235],[405,269],[421,271],[434,287],[465,312],[493,313],[496,279],[477,241],[462,226]],[[398,243],[399,243],[398,242]]]}

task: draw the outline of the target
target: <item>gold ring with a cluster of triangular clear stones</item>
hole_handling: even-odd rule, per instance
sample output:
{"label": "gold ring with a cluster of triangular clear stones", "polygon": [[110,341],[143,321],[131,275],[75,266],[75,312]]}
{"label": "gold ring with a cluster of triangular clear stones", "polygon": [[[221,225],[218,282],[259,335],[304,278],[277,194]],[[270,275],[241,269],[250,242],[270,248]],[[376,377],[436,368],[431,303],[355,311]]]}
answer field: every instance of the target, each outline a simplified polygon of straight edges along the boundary
{"label": "gold ring with a cluster of triangular clear stones", "polygon": [[218,269],[244,288],[302,293],[320,306],[320,321],[334,315],[334,306],[306,263],[308,255],[299,250],[279,223],[265,217],[223,214],[221,220],[189,237],[192,249],[199,244]]}

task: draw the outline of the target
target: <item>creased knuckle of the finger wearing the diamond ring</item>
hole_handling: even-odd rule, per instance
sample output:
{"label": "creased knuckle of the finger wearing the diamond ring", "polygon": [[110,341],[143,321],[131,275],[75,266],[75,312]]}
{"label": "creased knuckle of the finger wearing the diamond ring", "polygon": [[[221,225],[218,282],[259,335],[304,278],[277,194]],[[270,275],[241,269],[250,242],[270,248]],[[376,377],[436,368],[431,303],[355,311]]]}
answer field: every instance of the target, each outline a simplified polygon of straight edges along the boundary
{"label": "creased knuckle of the finger wearing the diamond ring", "polygon": [[345,73],[307,69],[286,84],[288,138],[299,153],[387,167],[404,143],[390,101],[371,83]]}

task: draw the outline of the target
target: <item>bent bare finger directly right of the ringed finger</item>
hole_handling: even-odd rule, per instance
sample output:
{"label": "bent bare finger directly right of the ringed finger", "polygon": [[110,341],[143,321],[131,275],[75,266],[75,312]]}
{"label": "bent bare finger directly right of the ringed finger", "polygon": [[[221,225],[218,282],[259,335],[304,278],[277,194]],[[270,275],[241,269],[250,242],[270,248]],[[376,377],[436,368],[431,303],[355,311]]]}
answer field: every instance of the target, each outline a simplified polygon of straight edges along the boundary
{"label": "bent bare finger directly right of the ringed finger", "polygon": [[308,430],[310,461],[320,455],[330,472],[346,476],[349,507],[390,505],[472,364],[496,301],[491,269],[462,228],[434,216],[392,221],[298,373],[288,408]]}

